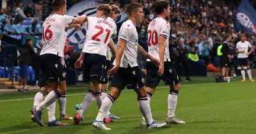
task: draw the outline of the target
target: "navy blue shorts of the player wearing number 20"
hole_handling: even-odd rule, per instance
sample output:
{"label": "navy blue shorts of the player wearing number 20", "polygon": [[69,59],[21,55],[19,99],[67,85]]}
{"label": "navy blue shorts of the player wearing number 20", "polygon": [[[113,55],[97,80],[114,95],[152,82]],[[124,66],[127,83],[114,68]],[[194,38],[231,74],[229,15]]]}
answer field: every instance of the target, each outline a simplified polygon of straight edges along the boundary
{"label": "navy blue shorts of the player wearing number 20", "polygon": [[176,85],[179,84],[179,77],[175,68],[172,67],[171,62],[164,62],[164,74],[159,77],[157,75],[157,71],[159,68],[152,63],[151,61],[147,61],[147,77],[145,86],[157,86],[159,85],[160,80],[163,80],[166,85]]}

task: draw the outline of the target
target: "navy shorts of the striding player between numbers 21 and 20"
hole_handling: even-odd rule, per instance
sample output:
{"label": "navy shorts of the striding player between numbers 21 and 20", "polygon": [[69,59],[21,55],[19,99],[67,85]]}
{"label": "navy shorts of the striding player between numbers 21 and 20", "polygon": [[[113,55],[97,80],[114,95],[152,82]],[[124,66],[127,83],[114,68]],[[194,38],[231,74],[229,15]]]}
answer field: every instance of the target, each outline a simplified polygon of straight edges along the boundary
{"label": "navy shorts of the striding player between numbers 21 and 20", "polygon": [[111,86],[118,86],[124,89],[125,86],[129,86],[132,89],[138,89],[144,86],[143,73],[139,66],[131,68],[120,67],[118,71],[113,75]]}

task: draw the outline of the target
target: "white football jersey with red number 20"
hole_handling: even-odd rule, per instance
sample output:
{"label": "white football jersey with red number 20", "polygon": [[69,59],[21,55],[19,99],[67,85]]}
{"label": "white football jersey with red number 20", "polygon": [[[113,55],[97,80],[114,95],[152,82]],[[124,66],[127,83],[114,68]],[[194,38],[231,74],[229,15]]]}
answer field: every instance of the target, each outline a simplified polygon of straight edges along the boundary
{"label": "white football jersey with red number 20", "polygon": [[[169,53],[169,37],[170,37],[170,24],[161,17],[157,17],[148,24],[148,54],[160,60],[159,58],[159,39],[160,36],[166,38],[164,61],[170,60]],[[147,59],[150,61],[150,59]]]}

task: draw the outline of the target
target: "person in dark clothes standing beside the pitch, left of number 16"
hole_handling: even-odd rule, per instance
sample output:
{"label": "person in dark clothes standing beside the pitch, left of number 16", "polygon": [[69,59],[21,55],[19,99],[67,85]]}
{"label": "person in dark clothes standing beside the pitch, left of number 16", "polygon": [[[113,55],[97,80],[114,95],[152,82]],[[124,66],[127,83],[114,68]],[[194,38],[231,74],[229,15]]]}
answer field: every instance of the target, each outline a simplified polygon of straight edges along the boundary
{"label": "person in dark clothes standing beside the pitch, left of number 16", "polygon": [[19,80],[19,92],[27,92],[27,72],[28,66],[31,64],[32,56],[38,56],[32,48],[33,42],[30,38],[26,40],[26,44],[20,50],[19,66],[20,66],[20,80]]}

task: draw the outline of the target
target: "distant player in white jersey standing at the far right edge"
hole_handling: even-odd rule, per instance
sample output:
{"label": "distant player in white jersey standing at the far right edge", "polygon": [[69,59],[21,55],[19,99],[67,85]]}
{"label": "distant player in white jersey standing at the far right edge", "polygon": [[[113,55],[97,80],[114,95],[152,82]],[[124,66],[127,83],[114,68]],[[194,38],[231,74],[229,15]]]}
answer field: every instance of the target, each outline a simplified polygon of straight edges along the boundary
{"label": "distant player in white jersey standing at the far right edge", "polygon": [[[250,51],[248,52],[248,48],[250,48]],[[245,82],[245,71],[244,71],[244,66],[247,67],[247,73],[249,77],[250,82],[254,82],[252,79],[252,70],[250,68],[250,61],[248,59],[248,56],[252,54],[254,48],[251,45],[249,41],[246,41],[246,35],[244,33],[241,34],[241,41],[236,43],[236,52],[238,53],[238,60],[239,64],[241,66],[241,75],[242,75],[242,80],[241,82]]]}

